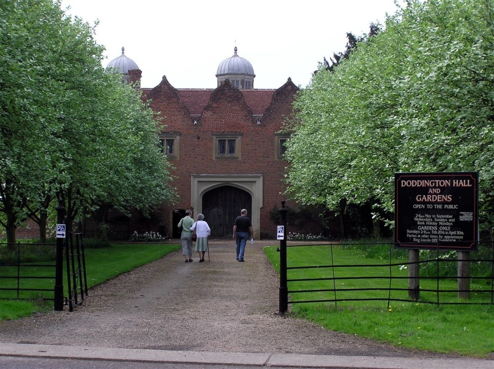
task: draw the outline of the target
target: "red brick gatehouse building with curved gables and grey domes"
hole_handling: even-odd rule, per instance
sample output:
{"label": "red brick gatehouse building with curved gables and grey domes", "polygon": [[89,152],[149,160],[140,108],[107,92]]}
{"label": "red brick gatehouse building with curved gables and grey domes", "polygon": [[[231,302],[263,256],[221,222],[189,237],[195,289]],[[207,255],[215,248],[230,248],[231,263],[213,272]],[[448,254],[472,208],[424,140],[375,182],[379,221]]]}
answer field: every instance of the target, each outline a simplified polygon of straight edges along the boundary
{"label": "red brick gatehouse building with curved gables and grey domes", "polygon": [[[124,83],[140,83],[142,72],[124,55],[124,48],[107,68],[122,73]],[[213,238],[231,238],[233,222],[243,208],[252,219],[256,239],[275,238],[278,224],[272,213],[285,199],[281,193],[287,166],[283,143],[288,135],[280,130],[291,117],[298,87],[288,78],[277,89],[254,89],[252,65],[237,54],[237,47],[219,64],[216,77],[217,86],[211,89],[177,89],[165,76],[154,88],[141,86],[143,99],[164,124],[160,142],[175,168],[180,200],[161,205],[151,218],[111,211],[110,238],[128,239],[134,231],[179,238],[176,224],[187,209],[193,210],[194,218],[205,215]],[[320,221],[312,219],[290,225],[291,231],[302,233],[319,234],[321,229]],[[93,232],[89,220],[86,237]]]}

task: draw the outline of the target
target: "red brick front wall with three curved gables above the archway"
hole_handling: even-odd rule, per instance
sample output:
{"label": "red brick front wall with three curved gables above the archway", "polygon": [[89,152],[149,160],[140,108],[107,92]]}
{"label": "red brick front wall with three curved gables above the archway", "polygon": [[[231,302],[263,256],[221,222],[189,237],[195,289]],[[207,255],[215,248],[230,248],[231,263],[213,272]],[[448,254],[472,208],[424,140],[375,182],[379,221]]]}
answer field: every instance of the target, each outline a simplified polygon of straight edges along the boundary
{"label": "red brick front wall with three curved gables above the archway", "polygon": [[[194,119],[181,103],[179,92],[164,79],[160,85],[148,92],[150,104],[166,124],[163,132],[180,133],[178,160],[170,160],[176,168],[174,174],[180,203],[165,207],[171,221],[174,208],[187,209],[191,205],[191,174],[263,176],[263,208],[260,211],[261,235],[276,234],[276,224],[270,219],[273,207],[281,207],[285,196],[282,183],[286,161],[276,158],[275,133],[292,111],[292,102],[297,87],[289,80],[278,89],[271,105],[256,123],[242,92],[229,83],[224,83],[211,93],[209,103],[194,125]],[[213,158],[213,136],[217,133],[241,134],[241,159],[220,160]],[[195,211],[195,214],[199,212]]]}

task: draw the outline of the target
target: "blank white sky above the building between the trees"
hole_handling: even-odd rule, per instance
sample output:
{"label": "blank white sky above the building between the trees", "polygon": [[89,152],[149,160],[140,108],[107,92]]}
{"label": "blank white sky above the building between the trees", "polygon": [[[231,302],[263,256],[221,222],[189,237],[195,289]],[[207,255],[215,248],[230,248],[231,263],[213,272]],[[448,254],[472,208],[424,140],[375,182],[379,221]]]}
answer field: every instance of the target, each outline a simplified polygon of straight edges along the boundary
{"label": "blank white sky above the building between the trees", "polygon": [[[307,86],[323,57],[342,52],[393,14],[394,0],[62,0],[62,9],[96,27],[103,66],[122,54],[142,71],[141,87],[163,77],[175,88],[215,88],[221,61],[234,54],[254,68],[254,88],[291,77]],[[400,1],[399,3],[402,3]]]}

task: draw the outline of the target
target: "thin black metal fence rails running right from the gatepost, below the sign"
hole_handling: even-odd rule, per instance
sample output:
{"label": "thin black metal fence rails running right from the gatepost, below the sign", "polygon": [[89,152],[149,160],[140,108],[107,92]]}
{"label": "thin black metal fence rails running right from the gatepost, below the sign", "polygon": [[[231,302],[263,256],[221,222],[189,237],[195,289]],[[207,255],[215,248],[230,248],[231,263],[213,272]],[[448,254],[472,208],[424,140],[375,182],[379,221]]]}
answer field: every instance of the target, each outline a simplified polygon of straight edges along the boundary
{"label": "thin black metal fence rails running right from the gatepost, below the sign", "polygon": [[[493,305],[494,245],[492,242],[480,242],[480,244],[479,247],[487,252],[479,258],[474,258],[476,254],[471,252],[471,257],[468,259],[454,259],[456,255],[454,251],[437,249],[424,251],[423,254],[428,255],[429,258],[413,262],[409,262],[406,255],[404,256],[404,250],[395,249],[392,243],[287,245],[287,253],[290,256],[287,258],[286,266],[287,294],[291,296],[288,303],[330,302],[336,305],[337,302],[342,301],[387,301],[389,307],[390,301],[402,301],[451,305]],[[387,261],[376,263],[372,260],[373,262],[369,264],[350,264],[347,261],[338,260],[334,253],[335,248],[347,248],[348,252],[352,249],[361,252],[367,248],[368,252],[373,247],[388,248]],[[296,260],[295,248],[315,248],[318,255],[324,255],[323,264],[299,265],[298,260],[292,262],[296,265],[290,266],[290,260]],[[492,257],[486,257],[485,254],[489,253]],[[430,257],[431,254],[433,258]],[[483,274],[453,275],[451,265],[447,264],[460,261],[466,262],[469,266],[482,264]],[[282,265],[281,262],[280,265]],[[408,273],[407,269],[414,265],[418,265],[419,270],[427,266],[428,275],[404,274]],[[351,275],[349,275],[350,270]],[[306,277],[308,274],[310,277]],[[411,288],[407,282],[411,280],[418,280],[420,284],[423,284],[418,291],[419,298],[410,294]],[[468,283],[471,281],[474,286],[468,289],[455,287],[454,284],[459,285],[460,280],[468,280]],[[473,294],[474,297],[459,298],[459,293]]]}

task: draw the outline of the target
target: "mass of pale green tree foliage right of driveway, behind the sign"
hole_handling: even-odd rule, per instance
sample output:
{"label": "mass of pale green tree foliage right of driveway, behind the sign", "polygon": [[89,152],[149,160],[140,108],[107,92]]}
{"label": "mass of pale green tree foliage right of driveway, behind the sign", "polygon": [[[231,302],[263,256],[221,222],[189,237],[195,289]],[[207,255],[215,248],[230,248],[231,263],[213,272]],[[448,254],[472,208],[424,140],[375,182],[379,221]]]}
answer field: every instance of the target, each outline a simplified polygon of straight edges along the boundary
{"label": "mass of pale green tree foliage right of driveway, behind the sign", "polygon": [[492,223],[493,22],[493,0],[410,0],[348,59],[321,63],[294,104],[288,193],[391,214],[396,172],[478,171]]}

